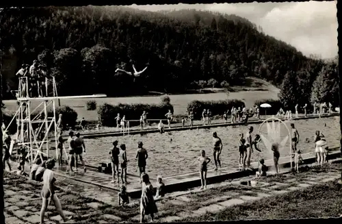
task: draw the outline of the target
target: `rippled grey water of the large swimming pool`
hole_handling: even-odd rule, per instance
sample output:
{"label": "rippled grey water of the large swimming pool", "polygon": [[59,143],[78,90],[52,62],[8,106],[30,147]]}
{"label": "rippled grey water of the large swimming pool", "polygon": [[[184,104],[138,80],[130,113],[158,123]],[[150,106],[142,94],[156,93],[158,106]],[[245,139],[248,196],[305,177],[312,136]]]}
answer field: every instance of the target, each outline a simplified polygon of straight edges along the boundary
{"label": "rippled grey water of the large swimming pool", "polygon": [[[320,130],[326,135],[328,145],[338,145],[339,132],[339,116],[322,119],[308,119],[292,121],[300,134],[300,142],[298,149],[302,153],[314,150],[313,137],[316,130]],[[325,125],[326,124],[326,125]],[[286,123],[289,127],[290,123]],[[260,125],[252,125],[254,127],[254,135],[257,134]],[[272,126],[272,125],[271,125]],[[290,129],[290,127],[289,127]],[[137,150],[137,142],[142,141],[144,148],[148,151],[148,159],[146,172],[155,177],[163,175],[163,177],[181,175],[198,171],[198,156],[201,149],[205,149],[209,158],[211,158],[208,169],[214,168],[212,155],[212,133],[217,132],[222,138],[224,147],[222,149],[221,160],[222,166],[238,166],[239,151],[239,133],[246,132],[246,126],[236,127],[215,127],[211,129],[192,129],[181,132],[172,132],[164,134],[146,134],[144,136],[120,136],[85,139],[87,153],[86,162],[94,166],[98,166],[100,162],[109,162],[108,152],[111,149],[111,143],[114,140],[119,141],[119,146],[125,144],[127,147],[127,158],[129,160],[128,172],[138,174],[137,162],[135,161],[135,153]],[[263,125],[261,134],[267,134],[267,126]],[[280,137],[287,135],[286,127],[280,127]],[[306,142],[306,138],[310,142]],[[272,158],[272,153],[265,149],[261,142],[259,144],[263,153],[260,157],[256,151],[252,154],[252,162],[259,158]],[[289,155],[289,140],[284,149],[280,151],[280,156]]]}

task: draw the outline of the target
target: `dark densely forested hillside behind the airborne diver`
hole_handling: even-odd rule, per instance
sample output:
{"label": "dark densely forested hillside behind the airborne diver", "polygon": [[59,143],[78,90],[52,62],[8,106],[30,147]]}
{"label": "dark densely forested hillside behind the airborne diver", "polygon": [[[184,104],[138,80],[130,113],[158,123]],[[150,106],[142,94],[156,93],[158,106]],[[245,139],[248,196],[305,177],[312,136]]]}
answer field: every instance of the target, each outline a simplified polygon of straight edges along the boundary
{"label": "dark densely forested hillside behind the airborne diver", "polygon": [[[323,66],[235,15],[118,6],[12,8],[0,13],[0,24],[6,90],[16,89],[20,65],[36,58],[55,75],[60,95],[181,92],[209,79],[218,86],[243,84],[246,76],[280,86],[289,71],[305,74],[312,86]],[[131,64],[148,69],[135,79],[114,73],[118,67],[131,71]]]}

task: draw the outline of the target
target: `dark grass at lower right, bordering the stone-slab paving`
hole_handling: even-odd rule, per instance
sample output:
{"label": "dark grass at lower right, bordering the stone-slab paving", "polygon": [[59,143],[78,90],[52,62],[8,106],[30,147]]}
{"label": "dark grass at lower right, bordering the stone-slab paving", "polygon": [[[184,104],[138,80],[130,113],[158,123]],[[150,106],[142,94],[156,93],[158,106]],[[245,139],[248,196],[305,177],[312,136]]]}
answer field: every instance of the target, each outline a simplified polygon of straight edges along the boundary
{"label": "dark grass at lower right, bordering the stone-slab paving", "polygon": [[[329,172],[341,173],[341,164],[328,164],[324,168],[313,166],[305,173],[298,175],[282,175],[280,177],[263,177],[260,182],[284,182],[285,179],[295,178],[296,182],[310,177],[324,175]],[[219,189],[201,192],[199,197],[214,195]],[[280,190],[280,189],[279,189]],[[220,190],[222,191],[222,189]],[[196,196],[197,198],[197,196]],[[342,214],[342,190],[337,181],[326,182],[308,187],[304,190],[295,190],[285,195],[276,195],[263,198],[259,201],[247,202],[233,206],[221,212],[207,212],[198,217],[181,221],[233,221],[252,219],[300,219],[338,217]]]}

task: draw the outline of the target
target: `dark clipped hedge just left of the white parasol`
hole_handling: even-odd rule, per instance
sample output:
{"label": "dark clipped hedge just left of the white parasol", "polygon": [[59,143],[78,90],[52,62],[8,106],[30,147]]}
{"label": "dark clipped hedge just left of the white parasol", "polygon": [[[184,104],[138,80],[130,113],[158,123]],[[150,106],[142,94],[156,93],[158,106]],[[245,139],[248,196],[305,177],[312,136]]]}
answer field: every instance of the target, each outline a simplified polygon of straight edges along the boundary
{"label": "dark clipped hedge just left of the white parasol", "polygon": [[187,112],[194,112],[194,119],[201,119],[202,112],[204,109],[211,110],[211,115],[222,115],[227,110],[231,110],[231,108],[245,106],[243,101],[238,99],[228,99],[228,100],[220,100],[220,101],[191,101],[187,104]]}

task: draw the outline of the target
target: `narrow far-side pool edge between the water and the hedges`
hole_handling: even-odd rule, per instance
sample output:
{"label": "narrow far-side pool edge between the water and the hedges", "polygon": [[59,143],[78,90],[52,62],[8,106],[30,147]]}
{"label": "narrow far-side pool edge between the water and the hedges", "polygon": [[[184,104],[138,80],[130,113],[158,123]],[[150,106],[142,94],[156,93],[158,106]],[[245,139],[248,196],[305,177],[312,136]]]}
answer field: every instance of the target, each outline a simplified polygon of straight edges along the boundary
{"label": "narrow far-side pool edge between the water and the hedges", "polygon": [[[291,121],[298,121],[298,120],[308,120],[308,119],[318,119],[318,118],[327,118],[327,117],[332,117],[332,116],[339,116],[339,113],[332,113],[332,114],[324,114],[324,115],[310,115],[308,116],[298,116],[298,118],[293,118]],[[278,118],[282,121],[285,121],[285,119],[274,116],[275,118]],[[248,125],[255,125],[255,124],[260,124],[263,123],[265,119],[261,120],[256,120],[254,118],[251,118],[250,121],[248,121]],[[176,126],[176,127],[171,127],[168,129],[167,125],[164,124],[165,126],[165,132],[179,132],[179,131],[185,131],[189,129],[210,129],[211,127],[228,127],[228,126],[238,126],[238,125],[244,125],[244,123],[213,123],[211,125],[194,125],[193,127],[190,127],[186,125],[185,127],[181,126]],[[153,129],[145,129],[141,131],[139,127],[135,127],[130,129],[129,135],[135,135],[135,134],[150,134],[150,133],[158,133],[159,130],[157,128]],[[109,137],[109,136],[122,136],[122,132],[117,131],[117,132],[98,132],[98,133],[86,133],[83,132],[81,133],[82,138],[101,138],[101,137]],[[125,133],[127,135],[127,133]],[[66,137],[67,135],[63,135],[63,137]],[[53,140],[54,138],[51,138]]]}

